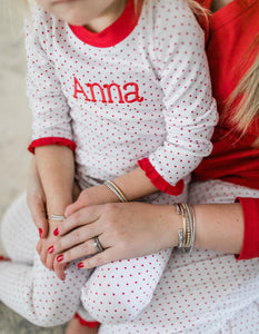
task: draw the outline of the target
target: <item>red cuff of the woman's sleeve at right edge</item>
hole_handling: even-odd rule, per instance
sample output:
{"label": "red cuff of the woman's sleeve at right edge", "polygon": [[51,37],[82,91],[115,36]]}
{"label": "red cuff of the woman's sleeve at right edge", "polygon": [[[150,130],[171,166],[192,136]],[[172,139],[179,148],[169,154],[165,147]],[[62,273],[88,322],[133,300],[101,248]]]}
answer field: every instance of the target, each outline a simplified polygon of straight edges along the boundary
{"label": "red cuff of the woman's sleeve at right edge", "polygon": [[259,198],[240,198],[243,213],[243,242],[242,249],[237,259],[259,257]]}

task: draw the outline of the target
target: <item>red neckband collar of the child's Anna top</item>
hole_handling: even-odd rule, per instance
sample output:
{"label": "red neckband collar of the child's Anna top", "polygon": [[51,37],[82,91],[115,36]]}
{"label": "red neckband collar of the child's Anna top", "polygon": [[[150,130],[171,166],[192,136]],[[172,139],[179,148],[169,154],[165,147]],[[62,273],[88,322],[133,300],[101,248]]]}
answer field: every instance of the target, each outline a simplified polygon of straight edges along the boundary
{"label": "red neckband collar of the child's Anna top", "polygon": [[128,0],[122,14],[101,32],[91,32],[83,26],[69,24],[72,32],[84,43],[97,48],[110,48],[126,39],[139,21],[143,0]]}

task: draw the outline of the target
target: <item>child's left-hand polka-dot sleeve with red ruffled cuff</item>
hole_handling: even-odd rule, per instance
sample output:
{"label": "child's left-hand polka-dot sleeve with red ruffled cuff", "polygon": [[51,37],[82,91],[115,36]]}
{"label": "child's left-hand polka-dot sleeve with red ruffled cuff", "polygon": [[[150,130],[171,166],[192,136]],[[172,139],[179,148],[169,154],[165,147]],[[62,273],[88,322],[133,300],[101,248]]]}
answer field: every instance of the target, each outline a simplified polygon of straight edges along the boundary
{"label": "child's left-hand polka-dot sleeve with red ruffled cuff", "polygon": [[[51,51],[46,47],[46,39],[54,27],[50,17],[42,16],[47,14],[40,9],[36,10],[26,26],[27,92],[32,111],[32,143],[29,150],[33,153],[37,146],[53,144],[74,149],[70,109],[56,76]],[[47,23],[43,30],[41,27],[40,33],[42,22]]]}

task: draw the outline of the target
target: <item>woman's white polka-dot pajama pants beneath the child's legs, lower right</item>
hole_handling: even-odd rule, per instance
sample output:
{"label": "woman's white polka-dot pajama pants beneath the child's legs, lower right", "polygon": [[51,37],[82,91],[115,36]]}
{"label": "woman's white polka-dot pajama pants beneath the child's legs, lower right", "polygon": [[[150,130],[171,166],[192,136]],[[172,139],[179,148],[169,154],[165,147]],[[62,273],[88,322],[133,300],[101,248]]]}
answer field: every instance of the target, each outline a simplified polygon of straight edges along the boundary
{"label": "woman's white polka-dot pajama pants beneath the child's legs, lower right", "polygon": [[[259,190],[220,180],[191,186],[189,203],[232,203]],[[208,222],[210,224],[210,222]],[[102,324],[99,334],[259,333],[259,259],[193,249],[173,252],[151,303],[133,321]]]}

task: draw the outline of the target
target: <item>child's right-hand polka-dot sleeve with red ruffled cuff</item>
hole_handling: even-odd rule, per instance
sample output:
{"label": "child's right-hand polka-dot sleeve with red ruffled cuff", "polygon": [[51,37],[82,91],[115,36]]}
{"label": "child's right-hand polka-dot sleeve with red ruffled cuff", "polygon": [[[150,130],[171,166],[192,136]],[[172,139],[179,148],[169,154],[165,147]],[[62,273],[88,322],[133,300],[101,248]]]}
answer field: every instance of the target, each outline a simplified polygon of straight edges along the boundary
{"label": "child's right-hand polka-dot sleeve with red ruffled cuff", "polygon": [[150,50],[163,91],[166,139],[139,161],[152,184],[170,195],[182,191],[182,178],[211,153],[210,138],[218,120],[203,32],[185,1],[177,3],[182,8],[177,8],[170,21],[157,13]]}

